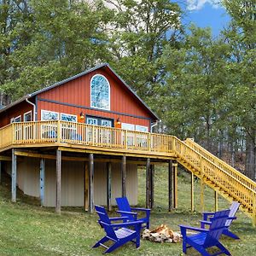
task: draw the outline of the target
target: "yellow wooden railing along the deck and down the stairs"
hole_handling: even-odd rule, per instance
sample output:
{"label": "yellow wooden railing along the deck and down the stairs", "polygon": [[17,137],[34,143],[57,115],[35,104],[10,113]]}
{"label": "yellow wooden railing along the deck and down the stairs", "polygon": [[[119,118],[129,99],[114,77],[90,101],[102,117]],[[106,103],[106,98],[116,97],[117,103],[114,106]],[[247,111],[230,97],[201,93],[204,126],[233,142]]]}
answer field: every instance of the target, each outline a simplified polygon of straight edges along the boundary
{"label": "yellow wooden railing along the deck and down the stairs", "polygon": [[0,148],[11,144],[71,143],[84,146],[131,149],[153,154],[177,154],[218,188],[240,201],[256,218],[255,183],[231,166],[218,160],[196,143],[184,143],[177,137],[66,121],[13,123],[0,129]]}

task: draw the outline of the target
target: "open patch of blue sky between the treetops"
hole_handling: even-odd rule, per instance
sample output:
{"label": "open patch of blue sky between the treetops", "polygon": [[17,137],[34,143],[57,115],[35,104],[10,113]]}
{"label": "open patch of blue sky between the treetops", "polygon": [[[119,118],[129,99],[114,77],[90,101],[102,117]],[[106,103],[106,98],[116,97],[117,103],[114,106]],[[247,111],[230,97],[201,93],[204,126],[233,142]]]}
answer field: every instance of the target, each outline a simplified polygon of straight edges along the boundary
{"label": "open patch of blue sky between the treetops", "polygon": [[212,28],[212,34],[218,36],[221,29],[227,26],[230,17],[218,4],[219,0],[186,0],[186,16],[183,22],[197,26]]}

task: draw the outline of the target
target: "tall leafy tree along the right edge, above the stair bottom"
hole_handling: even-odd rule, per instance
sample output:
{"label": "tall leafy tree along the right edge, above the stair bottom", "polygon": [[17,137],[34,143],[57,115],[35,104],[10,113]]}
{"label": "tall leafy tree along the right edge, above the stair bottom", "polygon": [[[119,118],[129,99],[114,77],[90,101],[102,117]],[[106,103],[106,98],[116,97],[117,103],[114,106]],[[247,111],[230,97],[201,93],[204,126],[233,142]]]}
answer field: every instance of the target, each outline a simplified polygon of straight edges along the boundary
{"label": "tall leafy tree along the right edge, above the stair bottom", "polygon": [[231,47],[233,115],[246,134],[246,174],[256,179],[256,3],[225,0],[232,17],[224,32]]}

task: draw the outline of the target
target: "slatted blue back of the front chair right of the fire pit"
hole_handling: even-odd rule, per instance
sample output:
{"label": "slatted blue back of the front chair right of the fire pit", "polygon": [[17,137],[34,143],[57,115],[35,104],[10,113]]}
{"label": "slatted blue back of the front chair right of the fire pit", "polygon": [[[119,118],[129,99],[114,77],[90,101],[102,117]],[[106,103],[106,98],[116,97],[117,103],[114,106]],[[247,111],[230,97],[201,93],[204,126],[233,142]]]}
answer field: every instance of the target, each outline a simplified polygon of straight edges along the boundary
{"label": "slatted blue back of the front chair right of the fire pit", "polygon": [[214,245],[221,236],[223,230],[226,228],[226,221],[229,218],[230,209],[215,212],[211,220],[209,231],[204,242],[205,245]]}

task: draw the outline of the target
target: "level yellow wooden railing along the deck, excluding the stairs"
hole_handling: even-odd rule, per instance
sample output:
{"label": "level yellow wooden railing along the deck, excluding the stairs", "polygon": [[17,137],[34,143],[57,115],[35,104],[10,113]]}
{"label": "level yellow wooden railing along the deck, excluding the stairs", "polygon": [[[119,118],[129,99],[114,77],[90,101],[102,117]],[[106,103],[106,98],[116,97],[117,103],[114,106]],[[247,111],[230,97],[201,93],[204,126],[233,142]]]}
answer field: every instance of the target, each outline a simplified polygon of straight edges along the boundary
{"label": "level yellow wooden railing along the deck, excluding the stairs", "polygon": [[[5,140],[5,134],[8,139]],[[155,153],[172,152],[172,136],[67,121],[13,123],[0,130],[4,143],[71,143],[104,148],[123,148]]]}

